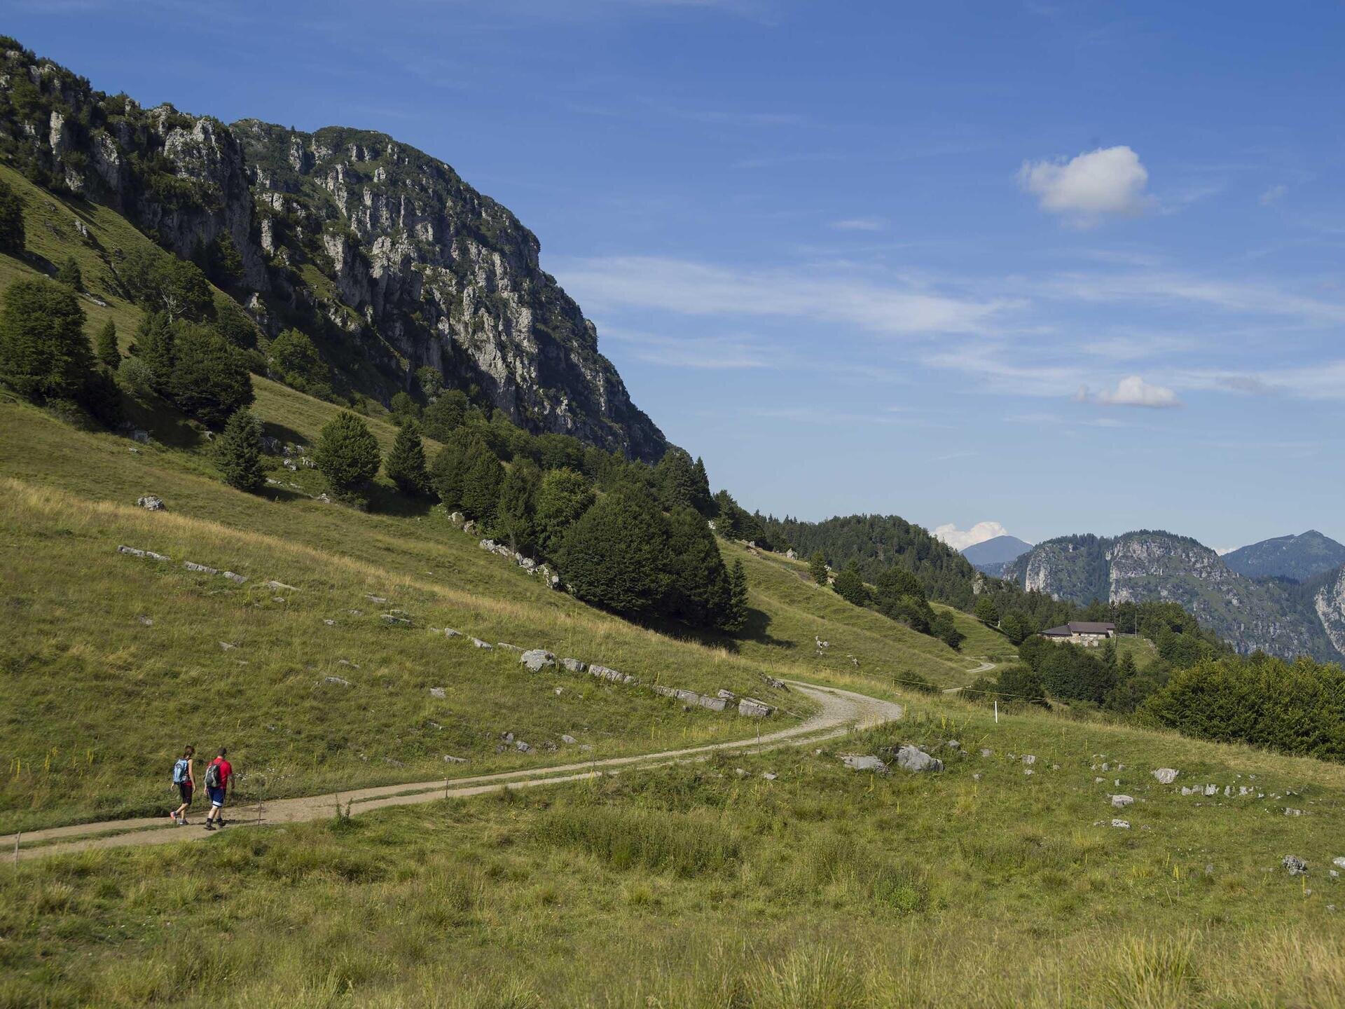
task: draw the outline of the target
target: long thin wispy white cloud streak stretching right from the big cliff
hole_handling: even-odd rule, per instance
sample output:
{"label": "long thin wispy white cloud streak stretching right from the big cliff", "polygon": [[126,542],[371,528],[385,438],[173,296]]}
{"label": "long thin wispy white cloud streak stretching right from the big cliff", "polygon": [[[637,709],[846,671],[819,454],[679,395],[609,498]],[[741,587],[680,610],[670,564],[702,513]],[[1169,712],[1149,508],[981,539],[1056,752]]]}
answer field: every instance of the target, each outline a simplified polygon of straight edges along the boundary
{"label": "long thin wispy white cloud streak stretching right from the big cliff", "polygon": [[882,335],[979,332],[1013,304],[932,293],[851,266],[741,269],[659,256],[572,260],[555,270],[589,311],[776,316],[846,323]]}

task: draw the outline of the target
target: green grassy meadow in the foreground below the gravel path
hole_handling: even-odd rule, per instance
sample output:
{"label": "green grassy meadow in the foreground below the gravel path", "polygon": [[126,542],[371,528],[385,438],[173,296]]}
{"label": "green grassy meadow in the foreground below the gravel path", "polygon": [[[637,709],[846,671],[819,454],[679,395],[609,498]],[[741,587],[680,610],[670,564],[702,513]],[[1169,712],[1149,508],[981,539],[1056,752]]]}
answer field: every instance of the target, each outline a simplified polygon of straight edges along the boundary
{"label": "green grassy meadow in the foreground below the gravel path", "polygon": [[[904,700],[816,755],[26,862],[0,1005],[1341,1005],[1345,768]],[[837,759],[901,740],[947,770]]]}

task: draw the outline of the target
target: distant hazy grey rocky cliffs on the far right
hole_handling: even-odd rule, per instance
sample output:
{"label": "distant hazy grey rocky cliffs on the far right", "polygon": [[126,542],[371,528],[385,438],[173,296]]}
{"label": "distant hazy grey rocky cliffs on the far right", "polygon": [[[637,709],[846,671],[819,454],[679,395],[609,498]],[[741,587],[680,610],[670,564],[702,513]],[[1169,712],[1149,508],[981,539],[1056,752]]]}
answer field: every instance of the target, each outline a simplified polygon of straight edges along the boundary
{"label": "distant hazy grey rocky cliffs on the far right", "polygon": [[1170,533],[1050,539],[1014,561],[1005,577],[1075,603],[1178,603],[1241,652],[1260,648],[1338,661],[1345,644],[1345,600],[1337,640],[1321,607],[1305,605],[1276,584],[1245,578],[1209,548]]}

